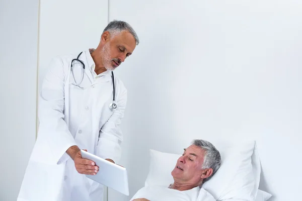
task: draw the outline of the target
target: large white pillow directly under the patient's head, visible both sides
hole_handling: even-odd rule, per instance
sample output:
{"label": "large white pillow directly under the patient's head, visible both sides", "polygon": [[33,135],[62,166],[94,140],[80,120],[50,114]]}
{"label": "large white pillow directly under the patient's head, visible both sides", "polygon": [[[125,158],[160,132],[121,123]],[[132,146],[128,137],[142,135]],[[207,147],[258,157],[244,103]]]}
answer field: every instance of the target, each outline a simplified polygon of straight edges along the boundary
{"label": "large white pillow directly under the patient's head, visible both sides", "polygon": [[[202,187],[218,201],[238,198],[254,201],[260,182],[260,159],[255,142],[231,146],[214,144],[221,155],[221,166]],[[150,150],[147,185],[169,186],[173,183],[171,171],[181,154]]]}

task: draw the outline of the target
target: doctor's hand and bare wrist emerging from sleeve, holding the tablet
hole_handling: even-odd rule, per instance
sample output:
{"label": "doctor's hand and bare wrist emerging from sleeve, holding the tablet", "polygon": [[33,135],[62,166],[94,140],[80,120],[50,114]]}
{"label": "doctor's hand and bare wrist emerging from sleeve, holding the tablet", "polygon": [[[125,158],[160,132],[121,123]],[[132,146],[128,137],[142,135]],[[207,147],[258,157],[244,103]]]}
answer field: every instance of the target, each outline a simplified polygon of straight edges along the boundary
{"label": "doctor's hand and bare wrist emerging from sleeve, holding the tablet", "polygon": [[[86,149],[84,150],[87,151]],[[95,162],[82,158],[81,150],[78,146],[71,146],[66,152],[73,159],[75,169],[80,174],[96,175],[98,173],[99,167],[95,165]]]}

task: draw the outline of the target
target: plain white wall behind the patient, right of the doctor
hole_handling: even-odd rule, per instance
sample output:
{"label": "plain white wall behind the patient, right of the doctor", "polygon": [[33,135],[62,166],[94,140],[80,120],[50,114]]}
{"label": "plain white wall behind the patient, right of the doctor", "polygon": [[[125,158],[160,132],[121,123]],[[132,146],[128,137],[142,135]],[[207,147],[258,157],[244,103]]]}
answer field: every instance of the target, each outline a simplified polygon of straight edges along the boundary
{"label": "plain white wall behind the patient, right of the doctor", "polygon": [[[302,3],[110,0],[109,20],[141,43],[118,74],[128,89],[121,164],[130,197],[148,150],[181,153],[194,138],[256,140],[260,188],[299,197],[302,163]],[[129,200],[113,190],[109,200]]]}

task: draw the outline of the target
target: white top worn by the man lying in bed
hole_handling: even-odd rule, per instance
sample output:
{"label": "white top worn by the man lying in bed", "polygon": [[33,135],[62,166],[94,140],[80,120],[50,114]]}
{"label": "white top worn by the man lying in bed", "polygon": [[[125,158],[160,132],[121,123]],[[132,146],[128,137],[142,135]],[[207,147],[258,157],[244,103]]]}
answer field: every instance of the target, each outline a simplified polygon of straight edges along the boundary
{"label": "white top worn by the man lying in bed", "polygon": [[164,186],[146,186],[139,189],[130,199],[146,198],[150,201],[215,201],[213,196],[203,188],[175,190]]}

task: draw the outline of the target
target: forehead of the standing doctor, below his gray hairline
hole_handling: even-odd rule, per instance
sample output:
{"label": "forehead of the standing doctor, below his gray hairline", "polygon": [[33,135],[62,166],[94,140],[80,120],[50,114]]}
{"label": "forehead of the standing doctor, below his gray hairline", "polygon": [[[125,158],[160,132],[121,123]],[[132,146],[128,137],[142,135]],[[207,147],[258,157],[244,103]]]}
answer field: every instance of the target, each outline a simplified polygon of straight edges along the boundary
{"label": "forehead of the standing doctor, below his gray hairline", "polygon": [[116,45],[124,46],[128,52],[133,52],[133,50],[136,47],[136,41],[132,34],[130,34],[127,31],[122,31],[118,35],[116,35],[112,42],[114,42]]}

